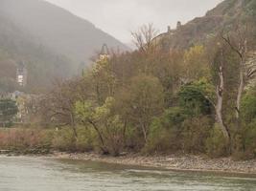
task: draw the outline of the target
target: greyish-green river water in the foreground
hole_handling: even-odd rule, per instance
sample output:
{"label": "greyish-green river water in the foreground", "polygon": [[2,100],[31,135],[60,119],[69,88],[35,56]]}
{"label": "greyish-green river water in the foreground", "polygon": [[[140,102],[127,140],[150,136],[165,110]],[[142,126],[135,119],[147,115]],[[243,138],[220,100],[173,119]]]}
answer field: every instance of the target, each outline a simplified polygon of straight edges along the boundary
{"label": "greyish-green river water in the foreground", "polygon": [[256,178],[70,159],[0,157],[0,191],[256,191]]}

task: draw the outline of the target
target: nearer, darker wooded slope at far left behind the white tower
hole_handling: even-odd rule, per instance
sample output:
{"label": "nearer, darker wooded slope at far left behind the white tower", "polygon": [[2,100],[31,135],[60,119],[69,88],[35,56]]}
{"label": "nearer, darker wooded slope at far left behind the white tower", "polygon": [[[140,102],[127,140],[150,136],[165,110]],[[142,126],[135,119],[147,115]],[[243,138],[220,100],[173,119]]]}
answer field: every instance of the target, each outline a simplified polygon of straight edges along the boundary
{"label": "nearer, darker wooded slope at far left behind the white tower", "polygon": [[0,93],[17,88],[16,68],[21,61],[29,72],[26,87],[29,92],[41,91],[51,85],[54,78],[66,78],[72,74],[68,58],[35,41],[32,35],[16,27],[0,12]]}

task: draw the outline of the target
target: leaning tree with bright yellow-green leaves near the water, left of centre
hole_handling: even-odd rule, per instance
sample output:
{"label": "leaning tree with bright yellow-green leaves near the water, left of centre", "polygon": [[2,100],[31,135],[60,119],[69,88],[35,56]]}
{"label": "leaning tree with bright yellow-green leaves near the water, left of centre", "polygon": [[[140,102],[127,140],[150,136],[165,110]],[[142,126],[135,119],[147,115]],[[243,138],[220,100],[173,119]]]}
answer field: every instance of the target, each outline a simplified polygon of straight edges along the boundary
{"label": "leaning tree with bright yellow-green leaves near the water, left of centre", "polygon": [[98,144],[104,152],[117,156],[123,149],[124,123],[119,115],[113,113],[114,104],[113,97],[107,97],[102,106],[95,106],[90,101],[78,101],[76,112],[78,118],[98,134]]}

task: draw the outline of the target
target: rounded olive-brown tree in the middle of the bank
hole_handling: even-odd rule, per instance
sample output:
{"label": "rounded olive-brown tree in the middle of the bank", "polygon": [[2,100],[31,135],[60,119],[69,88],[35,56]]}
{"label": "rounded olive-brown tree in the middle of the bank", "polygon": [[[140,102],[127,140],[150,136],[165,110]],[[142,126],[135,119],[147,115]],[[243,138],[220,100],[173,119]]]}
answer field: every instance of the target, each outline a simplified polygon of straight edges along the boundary
{"label": "rounded olive-brown tree in the middle of the bank", "polygon": [[122,99],[126,116],[140,129],[146,142],[153,117],[163,111],[164,95],[159,79],[146,74],[135,76]]}

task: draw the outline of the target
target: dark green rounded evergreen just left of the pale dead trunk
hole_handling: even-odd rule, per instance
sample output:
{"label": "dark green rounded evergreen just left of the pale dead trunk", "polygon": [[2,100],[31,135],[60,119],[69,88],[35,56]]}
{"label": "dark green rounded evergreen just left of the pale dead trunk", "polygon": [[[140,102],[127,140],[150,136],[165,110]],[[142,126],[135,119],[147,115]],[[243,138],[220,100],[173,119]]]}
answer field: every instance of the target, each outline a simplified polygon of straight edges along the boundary
{"label": "dark green rounded evergreen just left of the pale dead trunk", "polygon": [[179,93],[179,105],[184,108],[186,114],[198,117],[212,114],[213,87],[202,79],[181,87]]}

